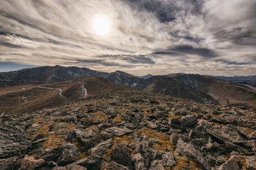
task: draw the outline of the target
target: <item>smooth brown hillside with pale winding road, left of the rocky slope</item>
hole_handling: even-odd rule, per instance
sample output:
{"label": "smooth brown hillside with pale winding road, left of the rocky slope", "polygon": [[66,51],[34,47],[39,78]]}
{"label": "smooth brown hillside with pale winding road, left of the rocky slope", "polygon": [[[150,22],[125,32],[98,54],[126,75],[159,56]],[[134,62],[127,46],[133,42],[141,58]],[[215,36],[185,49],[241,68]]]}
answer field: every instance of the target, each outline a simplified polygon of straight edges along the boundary
{"label": "smooth brown hillside with pale winding road, left of the rocky slope", "polygon": [[4,87],[0,89],[0,113],[18,115],[62,106],[115,88],[115,84],[101,77]]}

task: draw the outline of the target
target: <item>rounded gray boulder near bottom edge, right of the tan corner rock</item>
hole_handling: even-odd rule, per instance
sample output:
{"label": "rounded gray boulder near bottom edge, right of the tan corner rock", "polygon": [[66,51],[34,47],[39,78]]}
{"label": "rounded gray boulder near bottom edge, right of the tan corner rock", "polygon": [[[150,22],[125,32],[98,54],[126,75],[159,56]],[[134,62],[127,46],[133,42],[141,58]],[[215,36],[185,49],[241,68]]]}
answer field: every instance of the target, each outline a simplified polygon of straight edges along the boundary
{"label": "rounded gray boulder near bottom edge, right of the tan corner rock", "polygon": [[71,164],[72,162],[75,162],[77,158],[80,155],[79,148],[75,146],[72,143],[67,143],[65,146],[63,146],[63,151],[57,159],[57,163],[60,166],[66,166],[67,164]]}

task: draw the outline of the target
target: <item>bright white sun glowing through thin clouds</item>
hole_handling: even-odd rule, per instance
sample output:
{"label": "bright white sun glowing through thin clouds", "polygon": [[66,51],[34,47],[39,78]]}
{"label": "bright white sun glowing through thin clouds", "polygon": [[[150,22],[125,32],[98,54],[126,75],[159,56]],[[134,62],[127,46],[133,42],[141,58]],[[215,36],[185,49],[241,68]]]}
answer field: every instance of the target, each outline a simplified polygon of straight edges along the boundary
{"label": "bright white sun glowing through thin clouds", "polygon": [[96,34],[100,36],[106,36],[110,30],[111,22],[108,17],[104,15],[98,15],[93,20],[93,29]]}

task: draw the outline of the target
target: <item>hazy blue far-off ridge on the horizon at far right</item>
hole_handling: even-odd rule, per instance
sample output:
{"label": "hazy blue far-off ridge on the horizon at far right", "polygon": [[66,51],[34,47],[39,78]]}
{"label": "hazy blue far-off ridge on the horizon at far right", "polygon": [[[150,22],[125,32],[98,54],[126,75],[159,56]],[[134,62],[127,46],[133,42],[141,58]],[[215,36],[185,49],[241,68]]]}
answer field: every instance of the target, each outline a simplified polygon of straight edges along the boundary
{"label": "hazy blue far-off ridge on the horizon at far right", "polygon": [[232,81],[235,83],[256,87],[256,76],[215,76],[221,80]]}

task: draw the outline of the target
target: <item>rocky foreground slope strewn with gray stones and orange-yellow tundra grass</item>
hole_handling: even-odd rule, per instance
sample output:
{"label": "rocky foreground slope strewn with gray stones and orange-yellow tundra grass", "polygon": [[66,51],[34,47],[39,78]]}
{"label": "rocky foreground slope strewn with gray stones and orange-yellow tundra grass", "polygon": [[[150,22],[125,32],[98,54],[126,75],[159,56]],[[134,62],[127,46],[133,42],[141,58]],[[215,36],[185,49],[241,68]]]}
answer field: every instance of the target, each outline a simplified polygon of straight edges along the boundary
{"label": "rocky foreground slope strewn with gray stones and orange-yellow tundra grass", "polygon": [[121,88],[1,117],[0,169],[256,169],[255,113]]}

